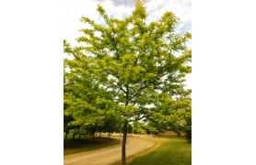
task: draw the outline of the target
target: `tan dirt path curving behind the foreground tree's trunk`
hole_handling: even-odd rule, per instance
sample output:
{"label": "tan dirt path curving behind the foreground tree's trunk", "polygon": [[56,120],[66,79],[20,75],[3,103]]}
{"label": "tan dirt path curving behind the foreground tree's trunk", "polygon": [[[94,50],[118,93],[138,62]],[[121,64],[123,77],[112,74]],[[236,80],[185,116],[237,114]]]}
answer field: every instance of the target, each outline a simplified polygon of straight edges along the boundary
{"label": "tan dirt path curving behind the foreground tree's trunk", "polygon": [[[127,137],[126,158],[132,157],[147,148],[152,148],[164,140],[163,138],[155,137]],[[121,147],[121,144],[119,144],[107,148],[64,155],[64,165],[110,165],[121,160]]]}

